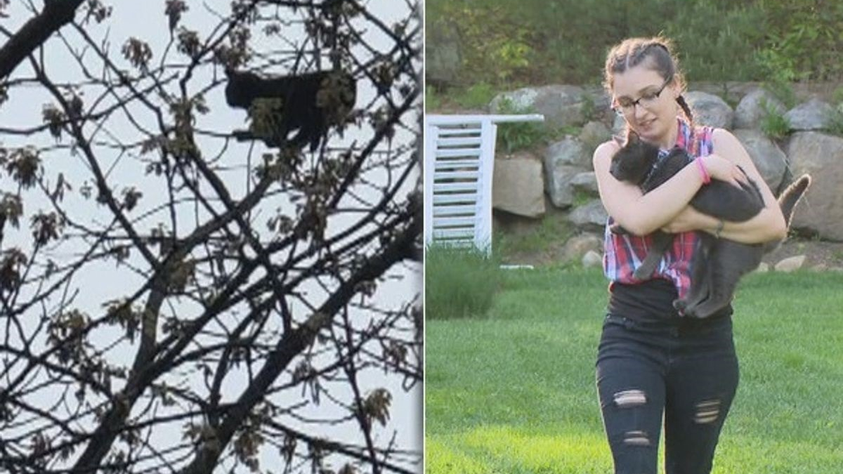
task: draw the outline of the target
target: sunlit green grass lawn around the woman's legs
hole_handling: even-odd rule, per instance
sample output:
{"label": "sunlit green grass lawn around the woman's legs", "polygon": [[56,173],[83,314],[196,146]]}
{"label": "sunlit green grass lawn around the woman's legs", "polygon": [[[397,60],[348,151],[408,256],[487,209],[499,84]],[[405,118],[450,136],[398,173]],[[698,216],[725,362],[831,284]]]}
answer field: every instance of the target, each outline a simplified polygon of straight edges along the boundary
{"label": "sunlit green grass lawn around the woman's legs", "polygon": [[[506,272],[488,315],[428,316],[428,474],[612,471],[593,369],[606,288],[593,270]],[[714,473],[840,474],[841,288],[841,273],[744,277]]]}

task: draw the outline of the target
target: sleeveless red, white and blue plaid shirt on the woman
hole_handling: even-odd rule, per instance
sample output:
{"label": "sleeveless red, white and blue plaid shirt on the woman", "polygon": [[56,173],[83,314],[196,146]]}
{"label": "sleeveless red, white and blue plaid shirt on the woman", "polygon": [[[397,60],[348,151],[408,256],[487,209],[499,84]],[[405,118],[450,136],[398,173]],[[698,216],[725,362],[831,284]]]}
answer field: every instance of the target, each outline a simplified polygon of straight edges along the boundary
{"label": "sleeveless red, white and blue plaid shirt on the woman", "polygon": [[[694,157],[711,154],[711,127],[697,127],[691,133],[691,127],[679,120],[679,133],[676,146],[685,148]],[[659,159],[663,159],[668,150],[661,150]],[[615,221],[609,217],[604,231],[603,270],[606,277],[613,283],[640,283],[632,274],[647,256],[647,250],[652,247],[652,236],[636,236],[632,234],[613,234],[609,226]],[[674,241],[658,262],[656,271],[651,278],[663,278],[674,283],[679,298],[687,294],[690,288],[690,259],[699,237],[695,232],[674,234]],[[611,290],[611,286],[609,286]]]}

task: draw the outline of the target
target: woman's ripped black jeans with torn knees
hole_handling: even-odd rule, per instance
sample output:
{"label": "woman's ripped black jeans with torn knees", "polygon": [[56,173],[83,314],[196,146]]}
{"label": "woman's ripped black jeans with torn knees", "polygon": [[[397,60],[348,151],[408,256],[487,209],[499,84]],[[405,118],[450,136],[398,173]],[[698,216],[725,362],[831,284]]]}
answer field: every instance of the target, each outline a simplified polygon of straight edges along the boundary
{"label": "woman's ripped black jeans with torn knees", "polygon": [[662,419],[666,473],[708,474],[738,388],[731,316],[606,316],[597,387],[615,474],[656,474]]}

